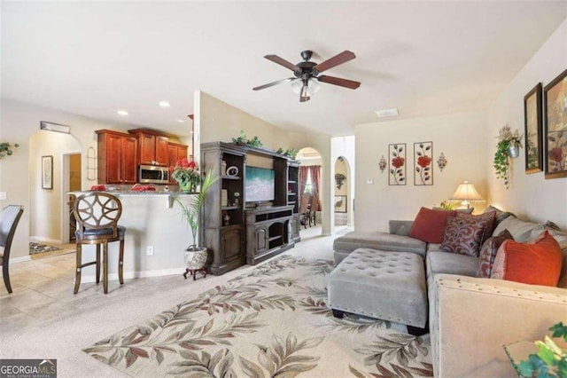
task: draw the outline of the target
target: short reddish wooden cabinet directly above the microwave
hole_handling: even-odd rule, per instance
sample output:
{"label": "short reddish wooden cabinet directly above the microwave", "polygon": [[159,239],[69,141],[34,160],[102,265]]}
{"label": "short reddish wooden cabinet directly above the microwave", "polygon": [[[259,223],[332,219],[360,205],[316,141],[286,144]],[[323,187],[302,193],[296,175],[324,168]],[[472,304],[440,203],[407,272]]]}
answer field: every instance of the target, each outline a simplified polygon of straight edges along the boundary
{"label": "short reddish wooden cabinet directly above the microwave", "polygon": [[167,135],[153,130],[128,130],[138,140],[138,163],[167,166],[169,162]]}

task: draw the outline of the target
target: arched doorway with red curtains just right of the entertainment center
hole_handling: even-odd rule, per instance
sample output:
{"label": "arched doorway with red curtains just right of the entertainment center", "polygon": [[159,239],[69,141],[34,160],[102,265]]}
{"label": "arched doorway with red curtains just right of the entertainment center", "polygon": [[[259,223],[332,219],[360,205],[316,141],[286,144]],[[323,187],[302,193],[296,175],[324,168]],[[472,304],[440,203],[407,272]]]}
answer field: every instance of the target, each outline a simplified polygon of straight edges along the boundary
{"label": "arched doorway with red curtains just right of the entertainment center", "polygon": [[299,161],[299,214],[301,238],[322,234],[322,155],[312,147],[304,147],[296,155]]}

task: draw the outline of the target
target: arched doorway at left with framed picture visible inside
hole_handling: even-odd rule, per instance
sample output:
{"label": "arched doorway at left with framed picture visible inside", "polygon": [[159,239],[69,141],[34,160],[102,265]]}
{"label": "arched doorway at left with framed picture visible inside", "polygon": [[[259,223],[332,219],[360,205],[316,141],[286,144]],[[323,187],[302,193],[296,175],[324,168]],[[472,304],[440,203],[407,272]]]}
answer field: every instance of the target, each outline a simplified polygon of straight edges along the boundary
{"label": "arched doorway at left with framed picture visible inside", "polygon": [[81,161],[81,143],[70,134],[39,130],[29,139],[30,241],[69,242],[67,192],[81,190]]}

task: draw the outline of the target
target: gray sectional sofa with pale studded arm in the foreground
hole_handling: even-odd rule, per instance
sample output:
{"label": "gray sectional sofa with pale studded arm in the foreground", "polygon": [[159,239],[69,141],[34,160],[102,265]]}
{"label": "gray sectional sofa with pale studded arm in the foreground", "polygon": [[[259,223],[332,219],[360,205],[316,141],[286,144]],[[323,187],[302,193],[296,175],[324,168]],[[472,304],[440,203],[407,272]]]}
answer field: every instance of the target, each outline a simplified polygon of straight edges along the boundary
{"label": "gray sectional sofa with pale studded arm in the foreground", "polygon": [[[513,215],[497,219],[493,235],[507,229],[524,242],[542,224]],[[567,319],[567,233],[550,230],[563,252],[558,287],[476,277],[478,257],[440,250],[409,236],[412,221],[390,221],[390,232],[349,232],[334,241],[339,264],[357,248],[413,252],[425,261],[429,329],[435,376],[515,376],[502,345],[542,340],[548,328]],[[526,356],[527,358],[527,356]]]}

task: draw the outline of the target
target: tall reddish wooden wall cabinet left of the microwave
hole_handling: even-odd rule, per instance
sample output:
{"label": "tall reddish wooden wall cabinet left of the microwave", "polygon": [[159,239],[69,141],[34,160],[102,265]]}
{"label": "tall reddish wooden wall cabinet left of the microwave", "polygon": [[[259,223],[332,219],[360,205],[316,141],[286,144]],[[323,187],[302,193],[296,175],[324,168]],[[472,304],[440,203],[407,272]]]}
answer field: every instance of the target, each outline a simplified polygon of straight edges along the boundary
{"label": "tall reddish wooden wall cabinet left of the microwave", "polygon": [[97,130],[98,184],[136,184],[135,136],[113,130]]}

